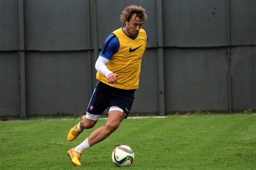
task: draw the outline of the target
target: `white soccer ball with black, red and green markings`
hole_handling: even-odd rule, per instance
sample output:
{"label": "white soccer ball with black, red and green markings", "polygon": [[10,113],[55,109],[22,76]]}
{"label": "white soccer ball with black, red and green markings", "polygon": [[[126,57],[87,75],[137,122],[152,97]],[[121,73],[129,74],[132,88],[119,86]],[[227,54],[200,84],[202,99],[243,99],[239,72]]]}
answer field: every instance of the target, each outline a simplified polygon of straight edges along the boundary
{"label": "white soccer ball with black, red and green markings", "polygon": [[112,152],[112,160],[116,166],[130,166],[134,160],[134,152],[129,146],[117,146]]}

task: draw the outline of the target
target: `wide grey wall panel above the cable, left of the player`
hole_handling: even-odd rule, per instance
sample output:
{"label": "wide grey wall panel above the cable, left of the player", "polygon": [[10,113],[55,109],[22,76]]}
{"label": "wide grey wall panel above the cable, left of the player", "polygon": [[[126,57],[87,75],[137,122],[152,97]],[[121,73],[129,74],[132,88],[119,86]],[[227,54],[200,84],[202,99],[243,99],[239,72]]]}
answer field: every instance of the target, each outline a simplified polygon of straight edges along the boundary
{"label": "wide grey wall panel above the cable, left of the player", "polygon": [[28,0],[25,8],[27,50],[81,50],[90,47],[89,1]]}

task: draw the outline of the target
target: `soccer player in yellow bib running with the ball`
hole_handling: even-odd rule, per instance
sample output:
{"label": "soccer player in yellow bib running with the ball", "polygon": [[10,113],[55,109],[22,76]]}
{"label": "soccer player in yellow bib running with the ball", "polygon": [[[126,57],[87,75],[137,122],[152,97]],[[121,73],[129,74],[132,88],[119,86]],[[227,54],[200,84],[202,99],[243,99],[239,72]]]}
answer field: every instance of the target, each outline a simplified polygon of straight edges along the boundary
{"label": "soccer player in yellow bib running with the ball", "polygon": [[114,132],[128,117],[139,87],[142,55],[148,41],[141,27],[146,21],[145,9],[139,6],[124,8],[120,16],[124,27],[112,32],[106,39],[95,63],[99,80],[92,94],[86,115],[70,129],[68,140],[72,141],[84,130],[94,127],[100,115],[108,108],[106,124],[97,128],[78,146],[68,150],[75,166],[81,166],[81,154],[87,148],[101,142]]}

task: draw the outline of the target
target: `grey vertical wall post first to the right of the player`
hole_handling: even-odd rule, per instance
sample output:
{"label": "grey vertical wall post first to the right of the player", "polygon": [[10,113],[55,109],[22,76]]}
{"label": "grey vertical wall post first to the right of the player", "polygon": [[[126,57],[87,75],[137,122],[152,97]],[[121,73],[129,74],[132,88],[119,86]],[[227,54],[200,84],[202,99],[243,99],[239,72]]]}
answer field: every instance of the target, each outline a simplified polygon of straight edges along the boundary
{"label": "grey vertical wall post first to the right of the player", "polygon": [[164,49],[163,49],[162,0],[157,1],[157,32],[158,32],[158,111],[165,116],[164,100]]}

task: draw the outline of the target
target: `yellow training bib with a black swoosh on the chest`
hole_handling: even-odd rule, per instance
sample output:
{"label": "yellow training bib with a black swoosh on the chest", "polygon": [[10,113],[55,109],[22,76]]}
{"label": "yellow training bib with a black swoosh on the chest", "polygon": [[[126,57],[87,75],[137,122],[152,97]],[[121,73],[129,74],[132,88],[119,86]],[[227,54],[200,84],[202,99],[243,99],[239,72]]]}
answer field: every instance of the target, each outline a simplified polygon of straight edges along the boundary
{"label": "yellow training bib with a black swoosh on the chest", "polygon": [[140,29],[138,36],[132,40],[124,32],[122,28],[112,32],[119,40],[120,48],[115,53],[106,67],[113,73],[119,74],[118,83],[110,84],[106,77],[97,71],[96,78],[101,82],[119,89],[138,89],[140,80],[140,65],[142,55],[146,51],[147,36],[143,29]]}

